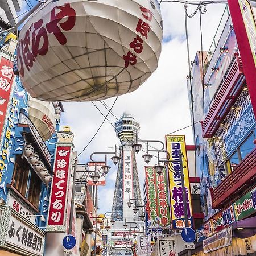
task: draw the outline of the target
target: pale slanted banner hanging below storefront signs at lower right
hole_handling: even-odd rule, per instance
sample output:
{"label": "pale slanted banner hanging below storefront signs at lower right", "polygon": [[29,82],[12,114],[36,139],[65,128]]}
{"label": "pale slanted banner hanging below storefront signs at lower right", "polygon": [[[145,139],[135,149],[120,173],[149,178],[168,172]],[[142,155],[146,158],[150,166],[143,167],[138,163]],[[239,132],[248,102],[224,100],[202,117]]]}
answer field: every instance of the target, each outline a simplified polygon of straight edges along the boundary
{"label": "pale slanted banner hanging below storefront signs at lower right", "polygon": [[209,253],[210,251],[221,249],[231,245],[231,243],[232,229],[229,227],[203,241],[204,253]]}

